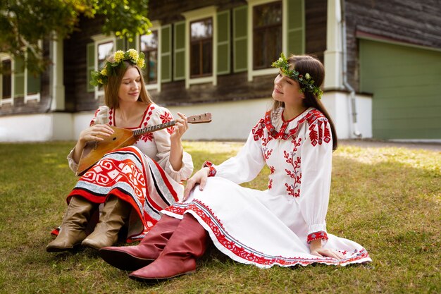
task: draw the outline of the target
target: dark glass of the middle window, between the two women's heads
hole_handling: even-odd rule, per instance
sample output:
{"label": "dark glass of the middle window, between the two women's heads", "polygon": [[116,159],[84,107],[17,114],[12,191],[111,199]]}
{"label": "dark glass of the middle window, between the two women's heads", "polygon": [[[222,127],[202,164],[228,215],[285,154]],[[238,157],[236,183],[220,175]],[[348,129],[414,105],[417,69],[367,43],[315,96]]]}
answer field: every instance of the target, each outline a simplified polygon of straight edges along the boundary
{"label": "dark glass of the middle window, between the two women's heads", "polygon": [[190,23],[190,76],[203,77],[213,73],[213,19]]}

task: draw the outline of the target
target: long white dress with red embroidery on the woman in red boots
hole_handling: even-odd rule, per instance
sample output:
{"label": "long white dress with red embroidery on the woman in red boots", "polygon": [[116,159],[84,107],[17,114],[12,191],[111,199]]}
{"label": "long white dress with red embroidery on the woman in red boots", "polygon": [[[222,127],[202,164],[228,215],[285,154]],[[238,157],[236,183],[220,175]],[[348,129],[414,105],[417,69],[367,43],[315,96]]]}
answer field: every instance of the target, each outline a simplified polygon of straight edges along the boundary
{"label": "long white dress with red embroidery on the woman in red boots", "polygon": [[[214,245],[237,262],[257,267],[313,263],[347,265],[370,262],[361,245],[326,231],[333,142],[327,118],[307,109],[283,121],[282,109],[261,118],[237,156],[212,165],[203,191],[163,211],[182,218],[192,214]],[[268,189],[244,188],[268,165]],[[344,259],[311,255],[309,242],[339,250]]]}

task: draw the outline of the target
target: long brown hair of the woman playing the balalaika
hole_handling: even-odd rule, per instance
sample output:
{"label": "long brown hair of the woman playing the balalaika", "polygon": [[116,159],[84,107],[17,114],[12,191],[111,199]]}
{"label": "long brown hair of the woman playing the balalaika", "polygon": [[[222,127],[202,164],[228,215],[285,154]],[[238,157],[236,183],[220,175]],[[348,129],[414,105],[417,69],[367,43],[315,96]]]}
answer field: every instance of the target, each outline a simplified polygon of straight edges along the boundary
{"label": "long brown hair of the woman playing the balalaika", "polygon": [[118,91],[120,89],[121,81],[123,80],[125,72],[129,68],[136,68],[139,76],[141,77],[141,89],[139,90],[138,101],[142,101],[146,104],[151,104],[153,101],[151,100],[149,92],[144,85],[144,78],[142,76],[141,69],[128,61],[124,61],[124,66],[120,66],[120,70],[117,75],[111,75],[108,77],[108,82],[104,85],[104,103],[108,108],[118,109],[120,99],[118,97]]}

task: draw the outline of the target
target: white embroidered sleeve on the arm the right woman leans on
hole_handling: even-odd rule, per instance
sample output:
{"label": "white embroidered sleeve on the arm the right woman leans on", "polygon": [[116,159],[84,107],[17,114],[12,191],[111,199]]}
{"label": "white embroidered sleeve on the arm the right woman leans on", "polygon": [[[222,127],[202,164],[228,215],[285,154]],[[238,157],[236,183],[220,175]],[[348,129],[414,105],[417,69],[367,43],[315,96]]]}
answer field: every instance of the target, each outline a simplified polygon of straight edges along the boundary
{"label": "white embroidered sleeve on the arm the right woman leans on", "polygon": [[[328,239],[326,233],[326,214],[330,193],[332,170],[333,143],[328,140],[326,133],[330,133],[330,126],[326,118],[317,118],[308,121],[302,126],[304,136],[302,145],[302,183],[300,204],[302,216],[308,224],[308,243],[311,240]],[[326,140],[325,140],[326,138]]]}

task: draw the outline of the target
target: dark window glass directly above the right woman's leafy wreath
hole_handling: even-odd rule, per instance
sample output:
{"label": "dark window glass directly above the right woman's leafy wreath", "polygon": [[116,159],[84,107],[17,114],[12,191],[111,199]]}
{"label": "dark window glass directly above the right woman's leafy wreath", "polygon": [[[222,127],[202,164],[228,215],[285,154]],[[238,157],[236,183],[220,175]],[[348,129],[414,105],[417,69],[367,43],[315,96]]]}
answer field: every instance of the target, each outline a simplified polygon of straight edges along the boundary
{"label": "dark window glass directly above the right woman's leafy wreath", "polygon": [[271,68],[282,52],[282,2],[253,7],[253,69]]}

